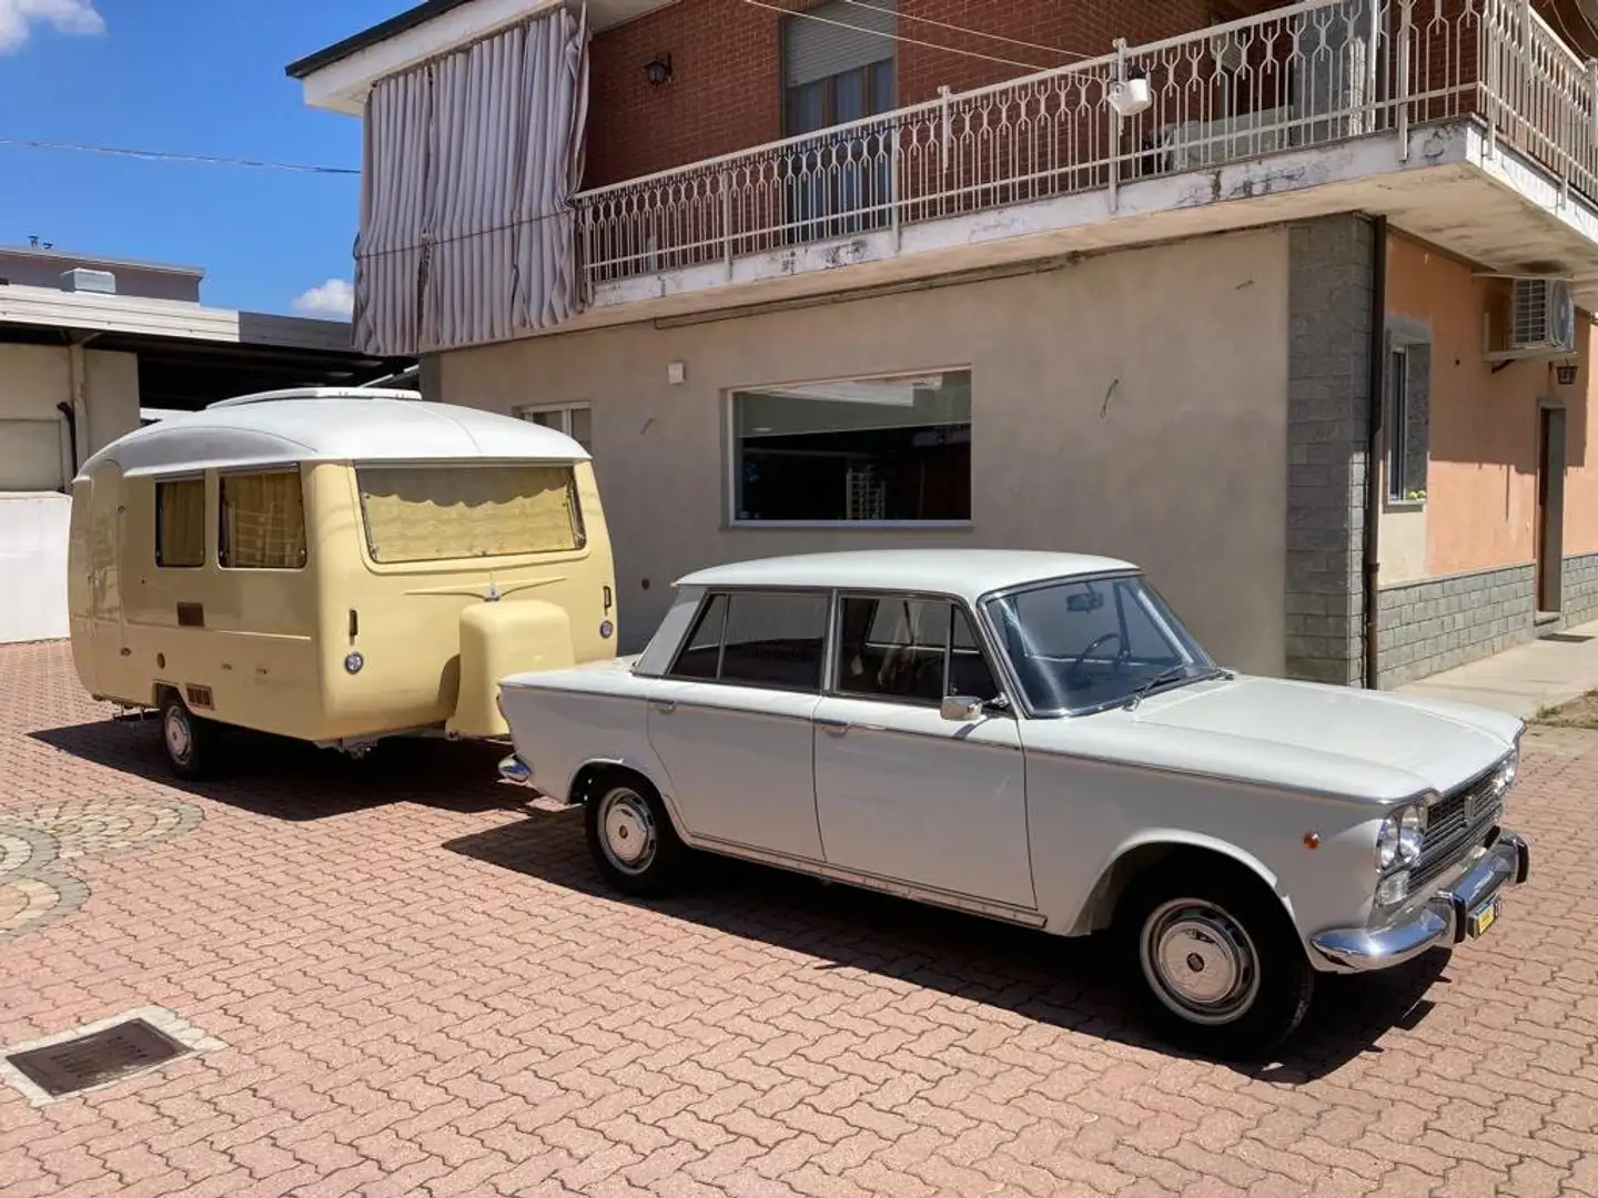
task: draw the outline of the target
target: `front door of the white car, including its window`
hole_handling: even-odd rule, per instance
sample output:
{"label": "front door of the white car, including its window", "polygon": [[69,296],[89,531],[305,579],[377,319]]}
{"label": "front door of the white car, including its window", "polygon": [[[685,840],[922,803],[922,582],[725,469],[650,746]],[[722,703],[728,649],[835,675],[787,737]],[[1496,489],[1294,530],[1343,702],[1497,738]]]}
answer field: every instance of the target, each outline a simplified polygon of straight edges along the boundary
{"label": "front door of the white car, including its window", "polygon": [[815,795],[828,864],[1032,909],[1016,720],[948,720],[944,695],[999,696],[962,605],[842,596],[815,709]]}

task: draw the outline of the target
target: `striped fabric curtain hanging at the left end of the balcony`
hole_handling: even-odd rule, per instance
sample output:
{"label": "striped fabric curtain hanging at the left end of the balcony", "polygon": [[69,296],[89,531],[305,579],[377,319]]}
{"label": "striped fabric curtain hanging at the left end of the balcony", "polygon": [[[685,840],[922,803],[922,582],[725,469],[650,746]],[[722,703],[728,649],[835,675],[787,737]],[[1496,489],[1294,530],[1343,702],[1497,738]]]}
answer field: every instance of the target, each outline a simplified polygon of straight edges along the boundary
{"label": "striped fabric curtain hanging at the left end of the balcony", "polygon": [[380,80],[366,101],[356,347],[481,345],[577,311],[586,120],[586,18],[566,8]]}

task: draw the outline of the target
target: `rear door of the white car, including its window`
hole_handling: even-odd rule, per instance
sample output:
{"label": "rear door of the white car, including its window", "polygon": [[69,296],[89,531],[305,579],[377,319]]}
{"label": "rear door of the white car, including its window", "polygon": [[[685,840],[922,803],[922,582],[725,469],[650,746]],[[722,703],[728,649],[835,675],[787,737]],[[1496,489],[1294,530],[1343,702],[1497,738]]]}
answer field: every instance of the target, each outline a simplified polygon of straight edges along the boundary
{"label": "rear door of the white car, including its window", "polygon": [[649,744],[695,837],[821,859],[810,724],[829,596],[706,596],[649,703]]}

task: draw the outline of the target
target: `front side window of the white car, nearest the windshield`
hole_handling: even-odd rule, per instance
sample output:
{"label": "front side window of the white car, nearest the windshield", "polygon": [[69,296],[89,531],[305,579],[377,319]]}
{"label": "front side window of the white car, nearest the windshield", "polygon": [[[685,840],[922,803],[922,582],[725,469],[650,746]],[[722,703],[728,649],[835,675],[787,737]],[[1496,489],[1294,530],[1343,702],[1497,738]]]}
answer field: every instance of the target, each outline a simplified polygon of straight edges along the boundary
{"label": "front side window of the white car, nearest the windshield", "polygon": [[999,695],[962,609],[896,596],[842,601],[836,688],[928,706],[944,695]]}

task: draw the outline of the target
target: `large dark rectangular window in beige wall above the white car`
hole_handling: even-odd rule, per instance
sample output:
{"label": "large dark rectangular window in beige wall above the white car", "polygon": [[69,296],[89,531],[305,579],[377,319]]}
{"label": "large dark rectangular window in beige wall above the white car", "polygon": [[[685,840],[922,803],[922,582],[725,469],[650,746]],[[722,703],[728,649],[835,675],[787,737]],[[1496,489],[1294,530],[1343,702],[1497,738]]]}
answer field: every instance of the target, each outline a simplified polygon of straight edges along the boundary
{"label": "large dark rectangular window in beige wall above the white car", "polygon": [[972,372],[732,393],[733,522],[964,524]]}

